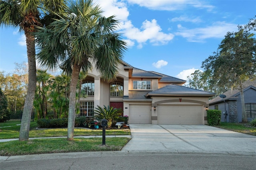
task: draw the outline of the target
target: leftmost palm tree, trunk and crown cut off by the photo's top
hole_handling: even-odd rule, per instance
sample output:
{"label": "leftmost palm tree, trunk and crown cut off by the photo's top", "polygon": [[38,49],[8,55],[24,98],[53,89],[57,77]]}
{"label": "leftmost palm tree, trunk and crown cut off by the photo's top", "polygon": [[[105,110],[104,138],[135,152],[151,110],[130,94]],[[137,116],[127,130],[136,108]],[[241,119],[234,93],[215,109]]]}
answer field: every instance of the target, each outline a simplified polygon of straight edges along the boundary
{"label": "leftmost palm tree, trunk and crown cut off by the photo's top", "polygon": [[[5,25],[6,27],[12,26],[19,28],[20,32],[24,32],[26,36],[28,93],[24,103],[20,126],[20,141],[28,140],[31,113],[36,91],[36,50],[35,38],[32,33],[35,32],[35,26],[44,26],[50,23],[52,21],[51,18],[56,16],[54,14],[61,13],[64,7],[64,0],[0,0],[0,26]],[[40,12],[42,15],[40,15]],[[44,16],[44,20],[41,20],[40,16]]]}

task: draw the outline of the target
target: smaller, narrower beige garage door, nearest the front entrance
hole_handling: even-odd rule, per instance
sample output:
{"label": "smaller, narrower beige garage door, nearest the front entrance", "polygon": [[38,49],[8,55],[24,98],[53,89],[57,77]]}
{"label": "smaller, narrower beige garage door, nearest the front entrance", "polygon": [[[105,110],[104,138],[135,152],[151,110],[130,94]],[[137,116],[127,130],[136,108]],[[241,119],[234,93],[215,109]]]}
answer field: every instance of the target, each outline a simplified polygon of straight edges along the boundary
{"label": "smaller, narrower beige garage door, nearest the front entrance", "polygon": [[129,105],[131,124],[151,124],[151,105]]}

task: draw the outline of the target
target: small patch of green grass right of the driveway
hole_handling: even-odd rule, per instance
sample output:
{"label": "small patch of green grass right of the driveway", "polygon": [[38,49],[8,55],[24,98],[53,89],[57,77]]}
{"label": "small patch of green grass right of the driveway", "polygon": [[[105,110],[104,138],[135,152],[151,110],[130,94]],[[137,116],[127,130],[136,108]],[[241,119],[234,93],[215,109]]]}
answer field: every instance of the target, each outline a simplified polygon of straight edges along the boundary
{"label": "small patch of green grass right of the driveway", "polygon": [[214,127],[231,130],[234,132],[251,134],[251,135],[256,136],[256,128],[249,127],[249,123],[224,123],[224,122],[221,122],[220,126],[214,126]]}

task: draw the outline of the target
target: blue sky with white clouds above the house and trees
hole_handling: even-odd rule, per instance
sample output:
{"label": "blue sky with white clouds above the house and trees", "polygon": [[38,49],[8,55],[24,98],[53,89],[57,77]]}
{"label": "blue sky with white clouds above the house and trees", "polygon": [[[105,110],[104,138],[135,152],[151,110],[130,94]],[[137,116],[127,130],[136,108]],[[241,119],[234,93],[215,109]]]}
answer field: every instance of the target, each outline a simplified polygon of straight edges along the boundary
{"label": "blue sky with white clouds above the house and trees", "polygon": [[[255,0],[94,0],[115,15],[128,44],[123,60],[133,67],[187,80],[217,51],[227,32],[256,16]],[[18,28],[0,28],[0,71],[27,62]],[[40,68],[40,65],[37,65]]]}

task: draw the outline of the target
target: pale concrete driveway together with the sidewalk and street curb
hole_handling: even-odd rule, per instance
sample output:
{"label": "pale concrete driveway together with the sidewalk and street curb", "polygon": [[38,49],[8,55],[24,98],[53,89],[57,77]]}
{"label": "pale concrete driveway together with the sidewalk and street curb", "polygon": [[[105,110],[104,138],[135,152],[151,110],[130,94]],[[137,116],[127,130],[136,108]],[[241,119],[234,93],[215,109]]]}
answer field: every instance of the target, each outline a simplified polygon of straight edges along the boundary
{"label": "pale concrete driveway together with the sidewalk and street curb", "polygon": [[[210,127],[207,125],[139,125],[130,124],[132,139],[121,151],[72,152],[24,156],[0,156],[0,162],[44,160],[85,156],[134,154],[213,154],[256,156],[256,136]],[[102,137],[102,136],[78,136]],[[118,137],[118,136],[106,136]],[[32,138],[30,138],[32,139]],[[18,140],[18,139],[9,139]],[[4,142],[8,140],[0,140]]]}

